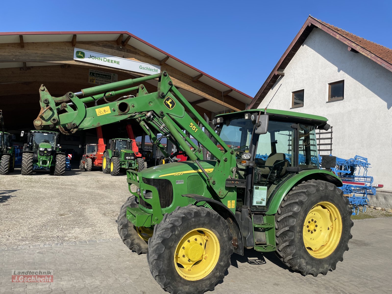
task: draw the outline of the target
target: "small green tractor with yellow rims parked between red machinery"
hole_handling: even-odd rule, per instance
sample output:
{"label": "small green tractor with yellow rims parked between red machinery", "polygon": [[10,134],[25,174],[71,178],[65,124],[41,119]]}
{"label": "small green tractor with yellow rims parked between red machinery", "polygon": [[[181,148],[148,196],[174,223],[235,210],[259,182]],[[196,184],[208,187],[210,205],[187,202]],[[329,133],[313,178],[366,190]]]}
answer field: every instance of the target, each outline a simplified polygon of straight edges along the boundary
{"label": "small green tractor with yellow rims parked between red machinery", "polygon": [[103,152],[102,171],[104,174],[118,176],[120,169],[142,171],[147,169],[147,162],[132,151],[132,140],[116,138],[109,140],[110,148]]}

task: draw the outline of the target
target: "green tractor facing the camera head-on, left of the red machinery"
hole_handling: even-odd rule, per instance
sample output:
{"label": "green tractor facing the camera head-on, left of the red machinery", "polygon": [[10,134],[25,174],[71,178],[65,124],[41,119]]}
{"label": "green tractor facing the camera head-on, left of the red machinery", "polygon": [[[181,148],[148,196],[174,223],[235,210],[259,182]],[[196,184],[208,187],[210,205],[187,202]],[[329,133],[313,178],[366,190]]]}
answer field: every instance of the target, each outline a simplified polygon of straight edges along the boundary
{"label": "green tractor facing the camera head-on, left of the red machinery", "polygon": [[[22,136],[24,132],[22,132]],[[65,174],[65,153],[61,152],[58,132],[29,131],[22,154],[22,175],[33,170],[50,171],[55,176]]]}

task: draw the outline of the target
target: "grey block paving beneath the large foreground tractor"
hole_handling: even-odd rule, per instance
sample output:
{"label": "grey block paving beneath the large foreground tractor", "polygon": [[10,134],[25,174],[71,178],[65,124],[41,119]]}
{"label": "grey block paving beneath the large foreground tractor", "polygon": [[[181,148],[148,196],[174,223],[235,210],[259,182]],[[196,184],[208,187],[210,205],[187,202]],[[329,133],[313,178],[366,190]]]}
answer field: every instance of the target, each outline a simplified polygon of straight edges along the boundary
{"label": "grey block paving beneath the large foreground tractor", "polygon": [[[290,272],[273,253],[233,254],[232,266],[214,294],[392,293],[392,218],[354,221],[350,250],[327,276]],[[28,246],[27,246],[28,247]],[[0,250],[0,293],[164,293],[146,256],[119,239]],[[12,283],[11,270],[53,270],[53,283]]]}

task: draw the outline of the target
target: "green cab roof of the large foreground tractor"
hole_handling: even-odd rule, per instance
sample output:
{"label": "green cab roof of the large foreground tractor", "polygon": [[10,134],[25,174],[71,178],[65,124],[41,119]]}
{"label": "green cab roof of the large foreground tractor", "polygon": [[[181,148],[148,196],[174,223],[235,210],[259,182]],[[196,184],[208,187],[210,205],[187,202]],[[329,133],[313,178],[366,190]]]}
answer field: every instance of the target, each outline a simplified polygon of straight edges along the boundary
{"label": "green cab roof of the large foreground tractor", "polygon": [[268,114],[270,119],[276,119],[276,120],[291,120],[291,121],[298,121],[298,122],[307,122],[311,123],[314,125],[323,125],[325,124],[328,119],[325,118],[324,116],[319,116],[319,115],[314,115],[314,114],[307,114],[307,113],[300,113],[300,112],[294,112],[294,111],[286,111],[286,110],[279,110],[279,109],[267,109],[266,112],[264,112],[265,109],[249,109],[249,110],[243,110],[243,111],[237,111],[234,113],[223,113],[223,114],[218,114],[216,117],[220,116],[230,116],[230,115],[237,115],[237,114],[245,114],[245,113],[255,113],[255,112],[261,112],[261,114]]}

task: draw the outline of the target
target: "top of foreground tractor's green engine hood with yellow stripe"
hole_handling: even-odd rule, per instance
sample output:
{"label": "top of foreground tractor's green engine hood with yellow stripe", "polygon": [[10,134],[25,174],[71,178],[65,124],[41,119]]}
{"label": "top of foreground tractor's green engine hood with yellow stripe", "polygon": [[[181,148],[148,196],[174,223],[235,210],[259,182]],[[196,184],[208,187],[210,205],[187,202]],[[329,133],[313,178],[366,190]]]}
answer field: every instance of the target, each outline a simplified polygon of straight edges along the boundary
{"label": "top of foreground tractor's green engine hood with yellow stripe", "polygon": [[[200,164],[207,173],[211,173],[216,165],[216,160],[201,160]],[[201,169],[193,161],[172,162],[150,167],[139,174],[143,178],[167,179],[170,176],[201,173]]]}

